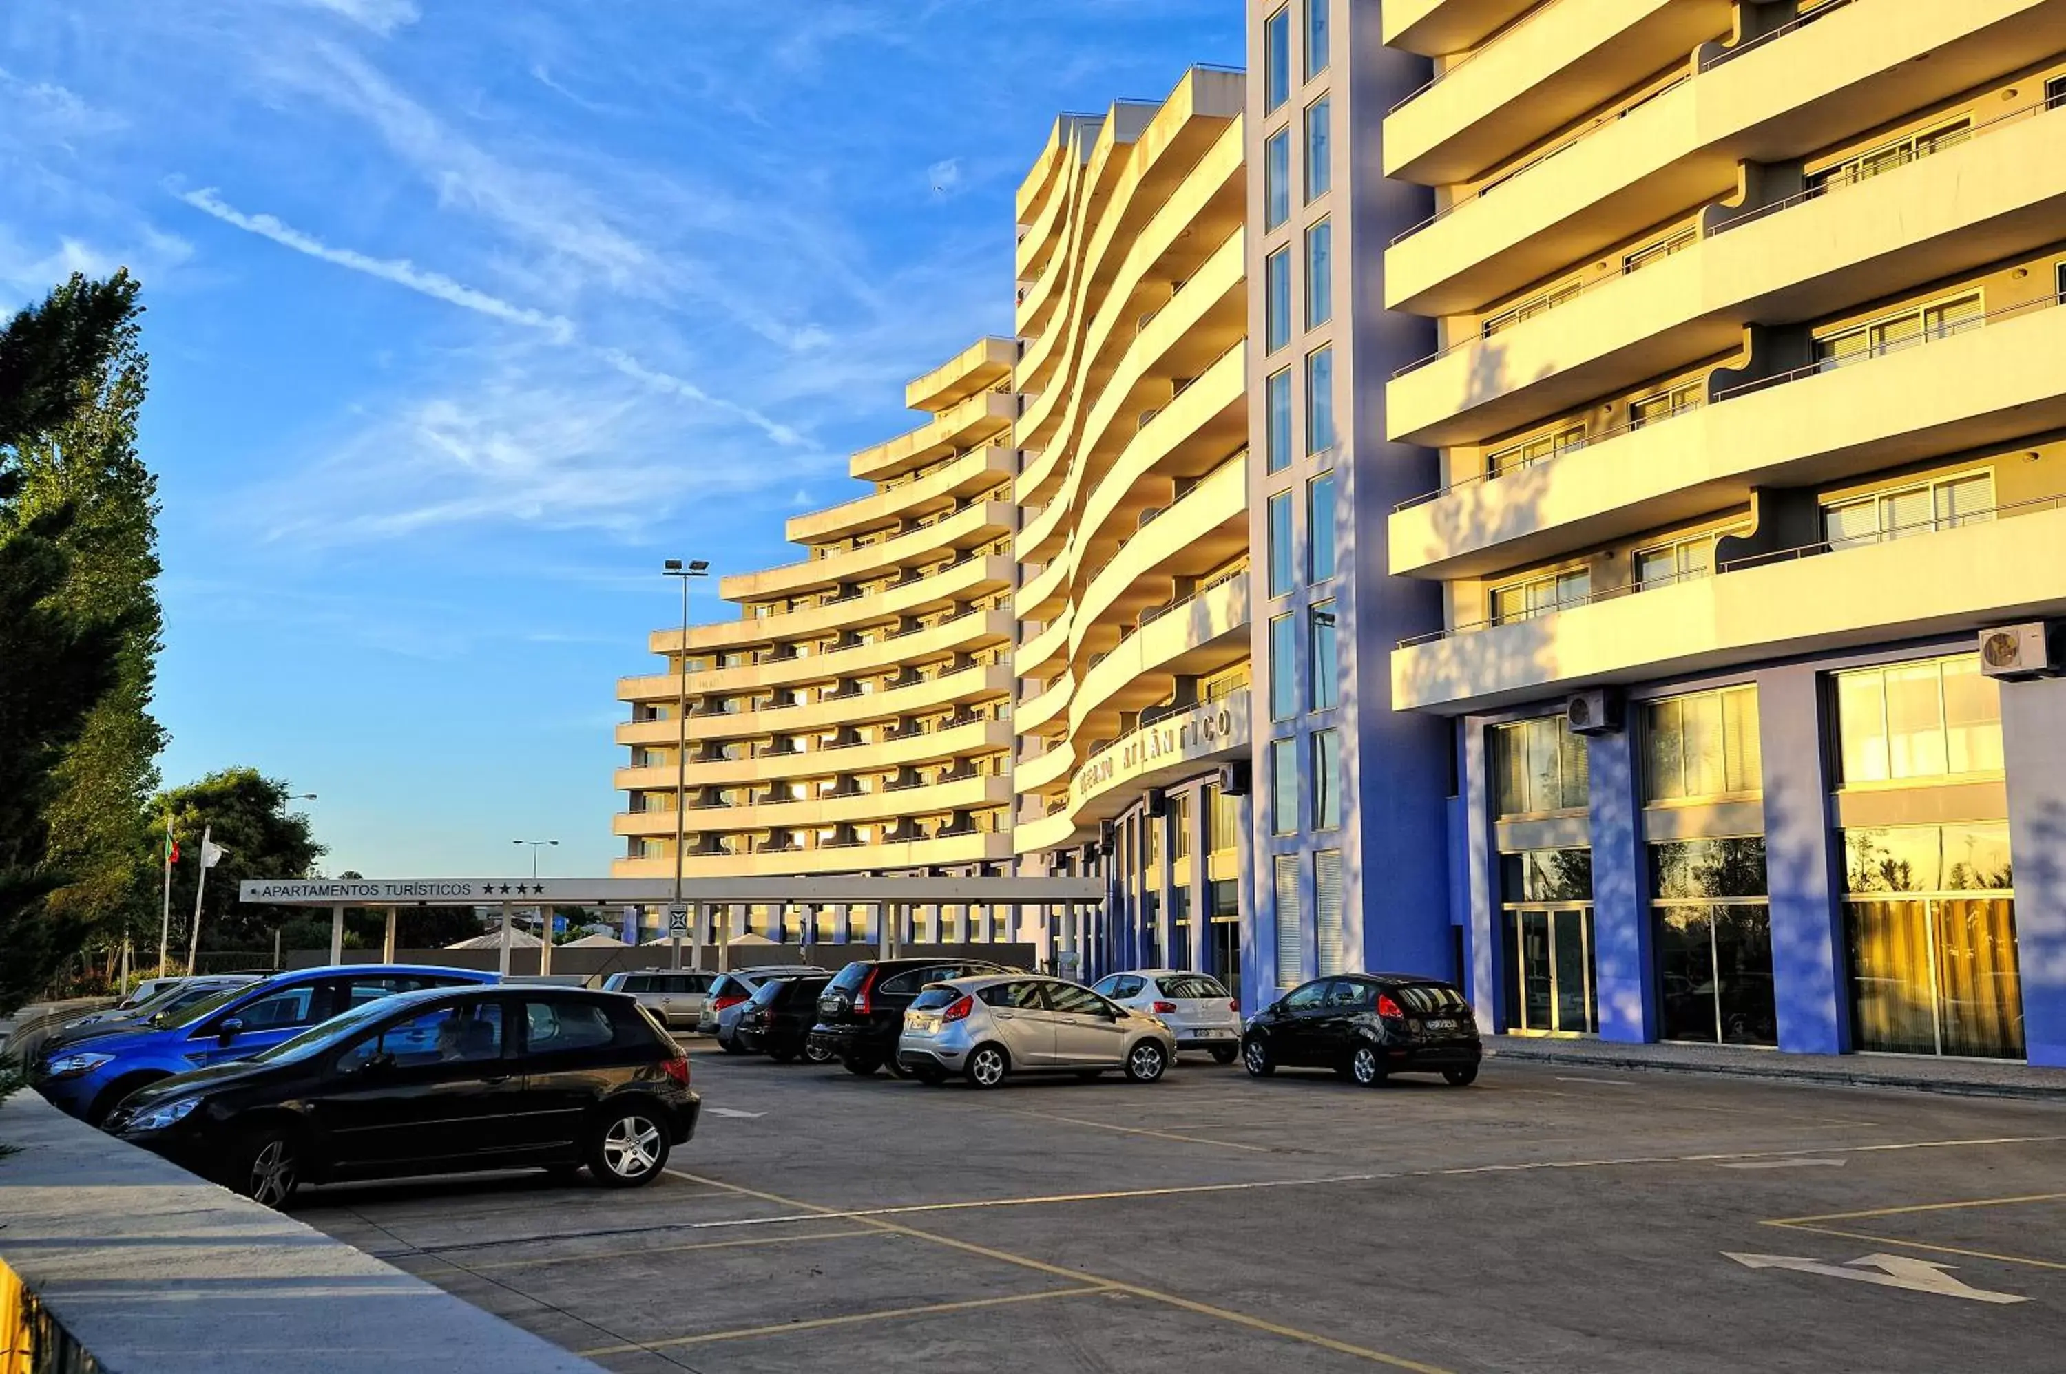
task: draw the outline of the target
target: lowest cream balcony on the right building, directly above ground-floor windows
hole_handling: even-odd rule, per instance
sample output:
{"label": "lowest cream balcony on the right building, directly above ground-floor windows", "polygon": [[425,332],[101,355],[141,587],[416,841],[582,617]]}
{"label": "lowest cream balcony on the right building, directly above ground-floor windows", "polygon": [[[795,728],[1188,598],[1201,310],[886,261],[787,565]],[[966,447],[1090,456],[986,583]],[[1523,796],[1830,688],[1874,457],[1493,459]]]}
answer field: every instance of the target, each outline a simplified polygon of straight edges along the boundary
{"label": "lowest cream balcony on the right building, directly above ground-floor windows", "polygon": [[2008,514],[1835,552],[1783,550],[1715,576],[1403,645],[1392,707],[1459,715],[2066,612],[2066,498]]}

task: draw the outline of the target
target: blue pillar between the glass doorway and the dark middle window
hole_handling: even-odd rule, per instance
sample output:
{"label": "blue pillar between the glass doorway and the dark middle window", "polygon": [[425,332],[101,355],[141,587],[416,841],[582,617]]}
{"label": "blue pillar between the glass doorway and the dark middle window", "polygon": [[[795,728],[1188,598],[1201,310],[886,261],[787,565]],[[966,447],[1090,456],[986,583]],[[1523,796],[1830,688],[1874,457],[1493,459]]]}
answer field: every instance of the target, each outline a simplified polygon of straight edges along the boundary
{"label": "blue pillar between the glass doorway and the dark middle window", "polygon": [[1649,876],[1642,798],[1636,793],[1634,731],[1587,742],[1593,829],[1593,988],[1599,1037],[1657,1039],[1657,979],[1651,977]]}

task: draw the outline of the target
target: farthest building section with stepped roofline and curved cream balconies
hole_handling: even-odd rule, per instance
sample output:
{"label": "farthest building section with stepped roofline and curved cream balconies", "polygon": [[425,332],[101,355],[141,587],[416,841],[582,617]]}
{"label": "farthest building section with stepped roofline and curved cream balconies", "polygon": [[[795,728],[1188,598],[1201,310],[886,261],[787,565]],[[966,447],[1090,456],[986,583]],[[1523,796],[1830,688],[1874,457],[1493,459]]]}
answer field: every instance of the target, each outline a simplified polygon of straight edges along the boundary
{"label": "farthest building section with stepped roofline and curved cream balconies", "polygon": [[[735,620],[651,636],[665,672],[618,684],[616,876],[674,876],[678,833],[692,878],[1010,872],[1016,353],[981,339],[913,380],[926,421],[851,457],[866,496],[789,521],[804,558],[725,576]],[[746,930],[797,940],[804,919],[866,938],[835,928],[862,909]],[[915,919],[913,944],[1006,938],[981,911]]]}

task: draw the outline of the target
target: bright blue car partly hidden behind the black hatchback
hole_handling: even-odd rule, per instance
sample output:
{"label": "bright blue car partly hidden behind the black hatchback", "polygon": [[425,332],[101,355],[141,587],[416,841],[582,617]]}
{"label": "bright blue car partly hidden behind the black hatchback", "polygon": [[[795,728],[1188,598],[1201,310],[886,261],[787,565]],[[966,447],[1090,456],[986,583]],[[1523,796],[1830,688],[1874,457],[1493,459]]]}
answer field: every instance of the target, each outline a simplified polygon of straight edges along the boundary
{"label": "bright blue car partly hidden behind the black hatchback", "polygon": [[496,973],[421,965],[298,969],[202,998],[157,1025],[60,1048],[35,1066],[33,1083],[58,1107],[99,1126],[124,1097],[147,1083],[207,1064],[248,1060],[376,998],[494,981]]}

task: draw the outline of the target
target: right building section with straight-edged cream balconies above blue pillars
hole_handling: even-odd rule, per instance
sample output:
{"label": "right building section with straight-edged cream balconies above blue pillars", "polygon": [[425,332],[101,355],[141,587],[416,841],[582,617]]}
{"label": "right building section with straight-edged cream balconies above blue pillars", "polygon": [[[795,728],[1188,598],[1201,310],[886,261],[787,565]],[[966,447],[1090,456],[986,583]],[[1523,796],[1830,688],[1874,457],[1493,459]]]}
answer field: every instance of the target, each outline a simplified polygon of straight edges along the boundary
{"label": "right building section with straight-edged cream balconies above blue pillars", "polygon": [[2066,4],[1376,37],[1421,81],[1349,136],[1428,202],[1368,308],[1432,322],[1384,440],[1438,455],[1386,570],[1440,618],[1366,674],[1454,725],[1479,1017],[2066,1064]]}

